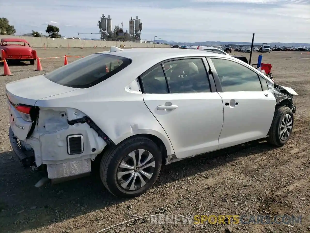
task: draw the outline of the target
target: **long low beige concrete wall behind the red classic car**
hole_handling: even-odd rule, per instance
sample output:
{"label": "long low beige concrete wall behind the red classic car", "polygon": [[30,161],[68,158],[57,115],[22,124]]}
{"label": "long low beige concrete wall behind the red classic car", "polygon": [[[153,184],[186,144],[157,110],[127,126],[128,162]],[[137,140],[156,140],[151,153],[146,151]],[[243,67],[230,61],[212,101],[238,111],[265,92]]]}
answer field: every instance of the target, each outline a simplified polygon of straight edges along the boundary
{"label": "long low beige concrete wall behind the red classic car", "polygon": [[[11,36],[0,35],[2,38],[22,38],[26,39],[30,46],[33,48],[93,48],[94,46],[100,47],[121,47],[120,41],[102,41],[102,40],[83,40],[83,39],[58,39],[58,38],[45,38],[45,37],[31,37],[31,36]],[[123,42],[125,48],[170,48],[170,45],[165,44],[148,44],[148,43],[135,43],[135,42]]]}

